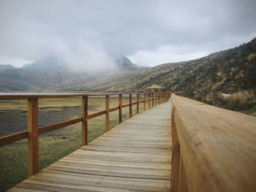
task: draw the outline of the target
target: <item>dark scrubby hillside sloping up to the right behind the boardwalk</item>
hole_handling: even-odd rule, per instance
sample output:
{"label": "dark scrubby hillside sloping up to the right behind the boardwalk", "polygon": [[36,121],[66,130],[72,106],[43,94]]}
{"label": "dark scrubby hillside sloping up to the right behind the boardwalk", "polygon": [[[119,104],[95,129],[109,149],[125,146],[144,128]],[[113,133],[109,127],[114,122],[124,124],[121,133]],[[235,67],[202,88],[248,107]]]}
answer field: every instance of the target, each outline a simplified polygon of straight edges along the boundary
{"label": "dark scrubby hillside sloping up to the right behind the boardwalk", "polygon": [[104,88],[108,91],[138,91],[153,83],[162,85],[167,91],[178,89],[192,99],[220,107],[224,105],[229,109],[238,107],[239,110],[239,106],[225,106],[223,97],[233,96],[237,100],[236,97],[243,95],[246,97],[244,99],[254,100],[256,39],[203,58],[162,64],[135,72]]}

